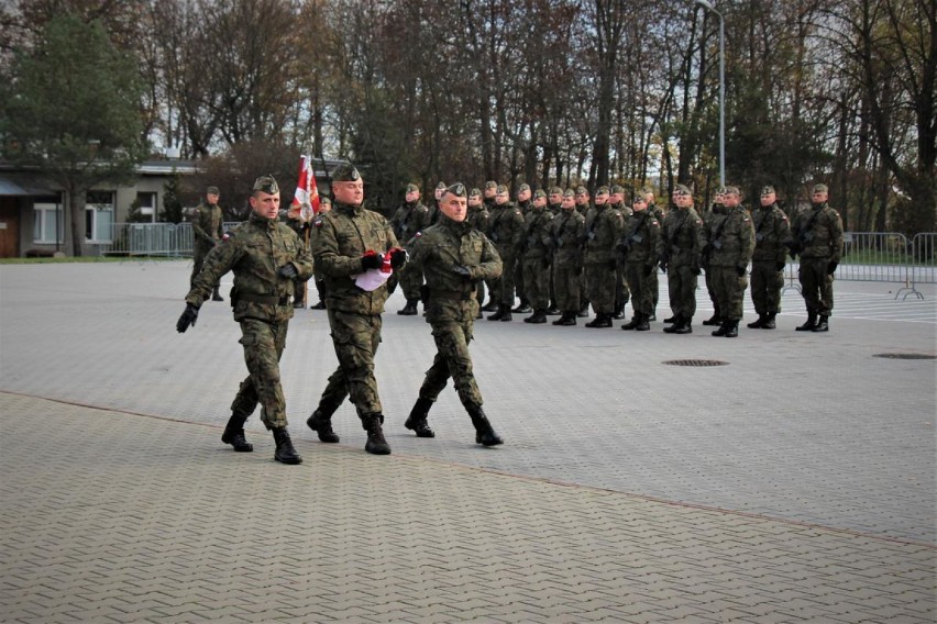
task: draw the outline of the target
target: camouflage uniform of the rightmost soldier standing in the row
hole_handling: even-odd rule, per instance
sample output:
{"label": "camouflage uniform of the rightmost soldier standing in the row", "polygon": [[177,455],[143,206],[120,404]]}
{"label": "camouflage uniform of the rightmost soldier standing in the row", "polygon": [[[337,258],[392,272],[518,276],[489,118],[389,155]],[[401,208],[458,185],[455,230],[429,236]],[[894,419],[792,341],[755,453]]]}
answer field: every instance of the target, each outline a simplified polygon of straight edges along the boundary
{"label": "camouflage uniform of the rightmost soldier standing in the row", "polygon": [[824,202],[801,212],[793,231],[801,255],[798,277],[807,314],[825,320],[833,314],[833,272],[842,256],[842,220]]}

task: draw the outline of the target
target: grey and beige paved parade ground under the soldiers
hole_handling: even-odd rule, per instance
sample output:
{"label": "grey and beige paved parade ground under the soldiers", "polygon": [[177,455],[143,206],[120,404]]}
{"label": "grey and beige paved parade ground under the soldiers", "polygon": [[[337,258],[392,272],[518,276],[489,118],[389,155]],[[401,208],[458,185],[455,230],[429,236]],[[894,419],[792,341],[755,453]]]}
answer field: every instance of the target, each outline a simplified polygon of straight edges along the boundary
{"label": "grey and beige paved parade ground under the soldiers", "polygon": [[793,332],[796,293],[735,341],[479,321],[494,449],[452,391],[436,439],[403,428],[432,343],[396,294],[390,457],[349,405],[342,444],[306,430],[335,359],[297,311],[286,467],[256,419],[255,453],[220,444],[238,327],[207,303],[175,333],[188,271],[0,267],[0,621],[937,619],[935,361],[872,357],[935,354],[933,292],[890,308],[888,285],[837,282],[853,308],[827,335]]}

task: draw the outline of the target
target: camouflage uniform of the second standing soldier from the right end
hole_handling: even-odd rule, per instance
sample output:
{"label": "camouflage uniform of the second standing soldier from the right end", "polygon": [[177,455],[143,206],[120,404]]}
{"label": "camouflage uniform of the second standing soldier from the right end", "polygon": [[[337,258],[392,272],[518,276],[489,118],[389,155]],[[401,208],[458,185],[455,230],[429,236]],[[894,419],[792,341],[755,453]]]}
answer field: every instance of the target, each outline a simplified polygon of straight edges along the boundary
{"label": "camouflage uniform of the second standing soldier from the right end", "polygon": [[[773,190],[773,189],[772,189]],[[751,301],[759,320],[781,312],[784,288],[784,246],[791,235],[791,223],[776,203],[759,207],[752,214],[754,254],[751,257]]]}

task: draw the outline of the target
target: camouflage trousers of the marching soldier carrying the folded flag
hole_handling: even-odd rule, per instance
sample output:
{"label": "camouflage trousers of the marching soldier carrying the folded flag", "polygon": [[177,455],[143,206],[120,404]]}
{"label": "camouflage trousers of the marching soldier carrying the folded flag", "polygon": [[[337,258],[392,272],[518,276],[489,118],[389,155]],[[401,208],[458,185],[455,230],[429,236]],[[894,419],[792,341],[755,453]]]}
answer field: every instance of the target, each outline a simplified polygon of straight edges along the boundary
{"label": "camouflage trousers of the marching soldier carrying the folded flag", "polygon": [[381,344],[381,315],[331,309],[327,312],[339,368],[326,383],[319,409],[331,414],[351,398],[359,417],[382,414],[384,411],[374,378],[374,356]]}

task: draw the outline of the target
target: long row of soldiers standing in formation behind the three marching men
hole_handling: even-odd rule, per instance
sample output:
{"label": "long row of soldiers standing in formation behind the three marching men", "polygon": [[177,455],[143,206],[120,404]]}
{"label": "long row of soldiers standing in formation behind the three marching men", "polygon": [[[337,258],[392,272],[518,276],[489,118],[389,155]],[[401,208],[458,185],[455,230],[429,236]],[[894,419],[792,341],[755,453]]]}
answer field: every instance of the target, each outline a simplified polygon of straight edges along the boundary
{"label": "long row of soldiers standing in formation behind the three marching men", "polygon": [[[437,196],[444,189],[440,182]],[[833,308],[833,272],[842,249],[842,225],[828,207],[828,189],[816,185],[812,210],[798,216],[792,230],[786,213],[776,203],[775,190],[761,191],[760,205],[749,212],[737,187],[717,191],[714,203],[697,212],[693,194],[677,185],[671,210],[664,212],[650,188],[633,193],[630,205],[621,186],[602,186],[594,199],[585,187],[532,191],[521,185],[517,201],[508,189],[494,181],[484,191],[474,188],[468,197],[468,221],[495,244],[504,271],[501,277],[478,283],[476,297],[488,302],[481,312],[493,312],[489,321],[511,321],[512,313],[531,313],[527,323],[545,323],[559,314],[554,325],[575,325],[577,317],[595,319],[587,327],[610,327],[624,317],[629,299],[633,316],[621,326],[648,331],[655,320],[658,269],[666,275],[672,316],[664,320],[666,333],[692,333],[696,312],[698,276],[705,285],[714,315],[704,325],[717,326],[716,336],[738,335],[745,291],[749,286],[758,320],[751,328],[773,330],[781,310],[781,290],[789,253],[801,254],[801,281],[808,321],[801,331],[827,331]],[[437,197],[438,199],[438,197]],[[397,238],[412,241],[434,222],[434,207],[420,202],[416,185],[392,218]],[[805,274],[804,267],[819,260],[823,266]],[[420,276],[399,277],[406,305],[398,314],[417,314]],[[514,307],[515,297],[520,303]]]}

